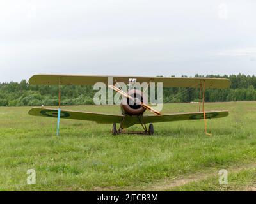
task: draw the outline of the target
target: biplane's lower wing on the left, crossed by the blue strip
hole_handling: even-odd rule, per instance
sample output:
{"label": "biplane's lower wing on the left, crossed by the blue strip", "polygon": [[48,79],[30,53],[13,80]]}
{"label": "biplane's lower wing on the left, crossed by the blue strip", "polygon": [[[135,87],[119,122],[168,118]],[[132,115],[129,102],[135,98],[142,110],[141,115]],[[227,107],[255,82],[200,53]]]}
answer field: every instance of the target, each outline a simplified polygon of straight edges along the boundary
{"label": "biplane's lower wing on the left, crossed by the blue strip", "polygon": [[[58,110],[49,108],[32,108],[29,110],[29,115],[58,117]],[[61,119],[89,120],[104,124],[111,124],[114,122],[119,123],[122,120],[122,115],[107,115],[102,113],[76,112],[70,110],[61,110],[60,117]]]}

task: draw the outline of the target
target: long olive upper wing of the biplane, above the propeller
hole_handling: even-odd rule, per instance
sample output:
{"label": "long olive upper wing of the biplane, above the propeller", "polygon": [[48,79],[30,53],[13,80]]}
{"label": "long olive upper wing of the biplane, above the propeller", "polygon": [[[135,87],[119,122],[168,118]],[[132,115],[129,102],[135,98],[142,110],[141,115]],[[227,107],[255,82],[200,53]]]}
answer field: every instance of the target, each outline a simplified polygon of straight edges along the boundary
{"label": "long olive upper wing of the biplane, above the propeller", "polygon": [[96,75],[34,75],[29,79],[29,84],[47,85],[94,85],[97,82],[108,84],[109,77],[115,78],[114,82],[128,84],[131,80],[136,82],[163,82],[164,87],[200,87],[205,82],[205,88],[223,89],[230,87],[230,80],[226,78],[194,78],[194,77],[134,77],[134,76],[96,76]]}

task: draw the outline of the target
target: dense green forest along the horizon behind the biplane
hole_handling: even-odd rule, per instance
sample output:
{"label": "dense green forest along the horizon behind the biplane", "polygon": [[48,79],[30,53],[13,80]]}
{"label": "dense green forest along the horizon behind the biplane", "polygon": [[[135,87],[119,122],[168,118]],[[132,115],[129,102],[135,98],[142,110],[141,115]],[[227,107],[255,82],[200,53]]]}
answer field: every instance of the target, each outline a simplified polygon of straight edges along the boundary
{"label": "dense green forest along the horizon behind the biplane", "polygon": [[[172,76],[174,77],[174,76]],[[182,76],[187,77],[187,76]],[[256,101],[256,76],[246,75],[195,75],[195,77],[228,78],[229,89],[207,89],[205,101]],[[59,87],[56,85],[29,85],[26,80],[0,84],[0,106],[55,106],[58,105]],[[92,105],[93,86],[61,86],[61,105]],[[188,103],[199,101],[199,89],[164,87],[164,103]]]}

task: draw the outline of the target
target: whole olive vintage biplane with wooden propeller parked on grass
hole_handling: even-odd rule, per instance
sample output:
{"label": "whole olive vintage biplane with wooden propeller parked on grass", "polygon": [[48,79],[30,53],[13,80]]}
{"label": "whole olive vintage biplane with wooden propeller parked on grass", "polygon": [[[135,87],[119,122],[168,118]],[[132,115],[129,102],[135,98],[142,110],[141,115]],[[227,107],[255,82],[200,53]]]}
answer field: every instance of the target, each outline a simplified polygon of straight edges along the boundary
{"label": "whole olive vintage biplane with wooden propeller parked on grass", "polygon": [[[33,85],[93,85],[97,82],[103,82],[108,84],[108,78],[113,77],[115,82],[124,82],[129,84],[131,79],[135,79],[136,82],[162,82],[163,87],[195,87],[200,89],[200,101],[199,110],[196,112],[188,113],[169,113],[162,114],[153,107],[149,106],[143,101],[143,92],[136,91],[134,94],[134,89],[127,92],[122,91],[116,85],[109,85],[109,88],[119,92],[123,98],[137,101],[136,104],[125,104],[121,103],[120,114],[105,114],[105,113],[92,113],[92,112],[77,112],[71,110],[62,110],[60,108],[32,108],[29,110],[29,115],[42,116],[42,117],[56,117],[58,118],[58,129],[60,125],[60,119],[74,119],[74,120],[88,120],[94,121],[99,124],[112,124],[113,135],[118,135],[120,133],[136,133],[153,135],[154,126],[156,122],[172,122],[179,120],[205,120],[206,119],[216,119],[228,116],[228,111],[223,110],[211,110],[205,111],[205,89],[225,89],[230,87],[230,80],[225,78],[192,78],[192,77],[124,77],[124,76],[95,76],[95,75],[34,75],[29,79],[29,84]],[[139,98],[139,103],[138,99]],[[59,92],[60,99],[60,92]],[[202,103],[202,105],[201,105]],[[152,114],[145,114],[145,111],[149,110]],[[120,124],[119,128],[116,124]],[[125,131],[135,124],[141,124],[143,131]],[[147,124],[149,124],[147,128]],[[205,133],[206,123],[205,123]],[[58,133],[57,133],[58,135]]]}

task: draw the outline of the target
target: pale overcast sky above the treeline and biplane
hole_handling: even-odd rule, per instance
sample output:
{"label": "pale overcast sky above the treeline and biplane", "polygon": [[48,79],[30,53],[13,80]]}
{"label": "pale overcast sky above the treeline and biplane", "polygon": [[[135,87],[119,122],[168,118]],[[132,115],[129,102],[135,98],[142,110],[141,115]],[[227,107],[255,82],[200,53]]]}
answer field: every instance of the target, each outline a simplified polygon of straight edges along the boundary
{"label": "pale overcast sky above the treeline and biplane", "polygon": [[256,74],[256,1],[0,0],[0,82]]}

